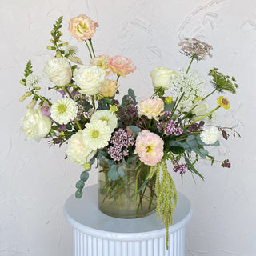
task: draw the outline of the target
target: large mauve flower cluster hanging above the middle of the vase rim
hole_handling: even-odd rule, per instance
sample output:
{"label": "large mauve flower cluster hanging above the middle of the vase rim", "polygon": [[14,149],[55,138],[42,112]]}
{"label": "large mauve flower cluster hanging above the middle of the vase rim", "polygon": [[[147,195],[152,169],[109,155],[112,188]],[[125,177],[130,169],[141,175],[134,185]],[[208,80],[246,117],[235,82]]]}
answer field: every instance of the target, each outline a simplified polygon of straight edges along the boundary
{"label": "large mauve flower cluster hanging above the middle of the vase rim", "polygon": [[110,158],[114,161],[120,161],[123,157],[129,154],[128,147],[133,146],[135,143],[134,137],[131,134],[128,134],[122,128],[118,129],[112,135],[110,139],[110,149],[108,153],[110,154]]}

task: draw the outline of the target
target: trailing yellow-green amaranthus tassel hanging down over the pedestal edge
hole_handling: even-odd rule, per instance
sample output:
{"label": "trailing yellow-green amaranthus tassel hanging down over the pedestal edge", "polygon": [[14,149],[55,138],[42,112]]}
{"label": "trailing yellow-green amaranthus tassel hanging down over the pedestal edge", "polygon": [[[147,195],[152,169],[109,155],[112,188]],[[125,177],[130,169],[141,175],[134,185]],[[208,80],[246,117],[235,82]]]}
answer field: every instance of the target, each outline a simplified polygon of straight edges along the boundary
{"label": "trailing yellow-green amaranthus tassel hanging down over the pedestal edge", "polygon": [[[162,177],[160,175],[160,166],[162,167]],[[156,168],[156,195],[157,195],[157,214],[158,218],[166,226],[166,248],[168,249],[169,226],[173,222],[173,213],[177,203],[177,191],[174,180],[170,177],[166,162],[158,163]]]}

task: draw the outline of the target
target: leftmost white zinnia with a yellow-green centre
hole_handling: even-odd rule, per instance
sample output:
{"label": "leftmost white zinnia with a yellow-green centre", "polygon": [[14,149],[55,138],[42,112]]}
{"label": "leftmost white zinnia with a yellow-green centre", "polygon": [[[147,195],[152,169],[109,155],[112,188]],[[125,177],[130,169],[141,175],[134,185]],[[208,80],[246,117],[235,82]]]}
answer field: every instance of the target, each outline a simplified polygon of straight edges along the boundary
{"label": "leftmost white zinnia with a yellow-green centre", "polygon": [[50,109],[50,117],[60,125],[66,125],[73,120],[78,113],[78,105],[71,98],[61,98]]}

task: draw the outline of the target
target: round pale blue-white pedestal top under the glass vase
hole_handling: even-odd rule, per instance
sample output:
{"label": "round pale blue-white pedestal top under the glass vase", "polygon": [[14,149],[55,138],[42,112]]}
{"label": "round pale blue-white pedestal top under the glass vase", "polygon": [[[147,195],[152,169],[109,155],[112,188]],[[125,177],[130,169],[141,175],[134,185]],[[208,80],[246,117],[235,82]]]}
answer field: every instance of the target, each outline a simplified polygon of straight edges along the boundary
{"label": "round pale blue-white pedestal top under the glass vase", "polygon": [[[192,210],[190,202],[186,196],[178,192],[178,202],[173,215],[173,225],[169,232],[179,230],[190,220]],[[157,214],[150,214],[143,218],[114,218],[103,214],[98,210],[98,186],[87,186],[83,190],[80,199],[75,198],[74,194],[66,200],[64,205],[64,216],[70,225],[77,230],[88,234],[98,234],[103,237],[106,234],[116,234],[133,238],[139,233],[152,237],[152,232],[165,234],[166,229],[161,219],[157,219]]]}

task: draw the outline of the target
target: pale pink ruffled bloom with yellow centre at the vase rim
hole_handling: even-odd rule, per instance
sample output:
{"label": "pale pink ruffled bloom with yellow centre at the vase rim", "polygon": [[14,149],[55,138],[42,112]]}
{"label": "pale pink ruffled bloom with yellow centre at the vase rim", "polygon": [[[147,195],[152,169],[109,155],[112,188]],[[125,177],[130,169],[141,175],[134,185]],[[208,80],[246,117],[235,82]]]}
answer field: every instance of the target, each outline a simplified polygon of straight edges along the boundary
{"label": "pale pink ruffled bloom with yellow centre at the vase rim", "polygon": [[149,130],[142,130],[136,139],[134,154],[147,166],[156,166],[162,160],[163,140]]}

